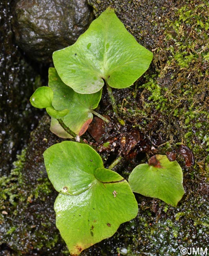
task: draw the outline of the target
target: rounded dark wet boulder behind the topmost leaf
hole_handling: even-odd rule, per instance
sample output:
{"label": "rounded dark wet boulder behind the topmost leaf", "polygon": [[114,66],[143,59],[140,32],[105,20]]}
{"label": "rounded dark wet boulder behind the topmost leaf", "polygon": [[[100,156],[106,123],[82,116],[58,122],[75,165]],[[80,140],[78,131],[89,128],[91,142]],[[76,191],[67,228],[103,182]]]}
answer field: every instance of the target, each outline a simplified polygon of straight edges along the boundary
{"label": "rounded dark wet boulder behind the topmost leaf", "polygon": [[92,20],[86,0],[20,0],[13,30],[17,45],[30,58],[46,63],[55,50],[75,43]]}

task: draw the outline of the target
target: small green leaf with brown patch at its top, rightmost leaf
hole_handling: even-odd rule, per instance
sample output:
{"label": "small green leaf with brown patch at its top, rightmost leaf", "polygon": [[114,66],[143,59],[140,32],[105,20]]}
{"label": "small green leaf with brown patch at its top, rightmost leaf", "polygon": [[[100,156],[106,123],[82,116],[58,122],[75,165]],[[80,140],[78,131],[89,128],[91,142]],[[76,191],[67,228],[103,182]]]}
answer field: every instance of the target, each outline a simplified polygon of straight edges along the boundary
{"label": "small green leaf with brown patch at its top, rightmost leaf", "polygon": [[183,173],[177,161],[170,162],[167,156],[152,156],[149,164],[134,168],[129,176],[129,185],[133,192],[147,197],[159,198],[176,206],[181,200]]}

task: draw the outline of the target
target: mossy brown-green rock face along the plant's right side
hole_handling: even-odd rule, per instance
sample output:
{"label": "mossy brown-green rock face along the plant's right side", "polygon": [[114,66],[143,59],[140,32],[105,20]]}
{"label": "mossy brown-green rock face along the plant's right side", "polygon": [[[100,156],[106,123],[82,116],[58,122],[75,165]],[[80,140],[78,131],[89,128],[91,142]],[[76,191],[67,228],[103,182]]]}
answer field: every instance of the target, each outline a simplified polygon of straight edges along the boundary
{"label": "mossy brown-green rock face along the plant's right side", "polygon": [[[104,1],[89,2],[96,6],[97,12],[106,7]],[[204,249],[209,244],[209,3],[206,0],[175,1],[172,8],[170,1],[164,4],[150,1],[150,6],[153,3],[157,6],[152,9],[153,22],[147,28],[141,12],[138,23],[143,30],[139,31],[132,26],[137,18],[129,22],[128,17],[132,15],[125,9],[130,10],[132,6],[136,14],[146,4],[131,1],[117,6],[117,0],[105,1],[105,4],[107,2],[120,11],[120,18],[130,32],[138,32],[134,36],[139,43],[147,40],[142,45],[152,46],[154,53],[150,72],[122,98],[121,113],[126,119],[134,117],[134,125],[147,135],[152,147],[161,154],[183,143],[192,149],[196,158],[191,168],[186,168],[183,159],[178,158],[183,167],[185,196],[177,208],[137,195],[139,215],[134,224],[130,222],[132,228],[129,229],[128,224],[121,225],[111,241],[118,252],[125,247],[127,255],[132,256],[177,256],[181,247]],[[167,13],[162,15],[165,9]],[[147,22],[149,13],[150,10],[146,12]],[[97,245],[91,250],[96,248]]]}

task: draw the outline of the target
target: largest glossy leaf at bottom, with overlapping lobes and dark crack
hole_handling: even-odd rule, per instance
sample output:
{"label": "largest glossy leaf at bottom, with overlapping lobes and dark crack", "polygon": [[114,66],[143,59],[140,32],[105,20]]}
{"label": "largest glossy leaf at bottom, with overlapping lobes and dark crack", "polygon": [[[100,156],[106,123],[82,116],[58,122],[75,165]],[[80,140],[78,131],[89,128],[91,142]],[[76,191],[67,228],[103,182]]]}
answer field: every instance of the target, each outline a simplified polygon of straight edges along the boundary
{"label": "largest glossy leaf at bottom, with overlapping lobes and dark crack", "polygon": [[112,236],[121,223],[136,217],[138,203],[128,182],[105,169],[90,146],[58,143],[44,152],[44,163],[61,192],[54,206],[56,225],[71,255]]}

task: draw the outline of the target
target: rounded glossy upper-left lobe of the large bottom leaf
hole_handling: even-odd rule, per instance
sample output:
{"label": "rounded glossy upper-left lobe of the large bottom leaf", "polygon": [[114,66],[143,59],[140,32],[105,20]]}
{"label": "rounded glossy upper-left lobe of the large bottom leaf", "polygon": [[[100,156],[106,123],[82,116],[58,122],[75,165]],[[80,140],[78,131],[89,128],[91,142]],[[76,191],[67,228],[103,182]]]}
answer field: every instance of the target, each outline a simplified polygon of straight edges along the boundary
{"label": "rounded glossy upper-left lobe of the large bottom leaf", "polygon": [[54,188],[66,195],[77,195],[92,186],[94,172],[103,161],[88,145],[73,141],[57,143],[44,152],[44,163]]}

